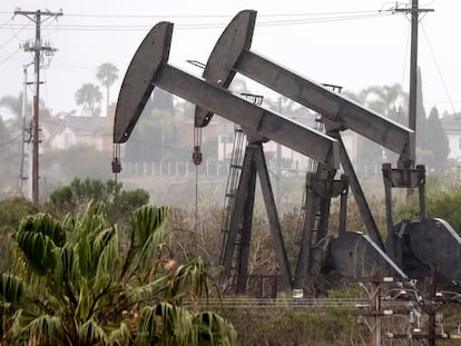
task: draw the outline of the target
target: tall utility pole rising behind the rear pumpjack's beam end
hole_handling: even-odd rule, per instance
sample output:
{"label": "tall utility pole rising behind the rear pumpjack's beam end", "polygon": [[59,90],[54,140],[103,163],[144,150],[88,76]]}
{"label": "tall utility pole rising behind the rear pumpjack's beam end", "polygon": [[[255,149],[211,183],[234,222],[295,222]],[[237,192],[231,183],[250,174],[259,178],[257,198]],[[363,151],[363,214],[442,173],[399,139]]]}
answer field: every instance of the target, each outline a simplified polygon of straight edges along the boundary
{"label": "tall utility pole rising behind the rear pumpjack's beam end", "polygon": [[[416,90],[418,90],[418,24],[420,13],[433,12],[433,9],[420,9],[418,0],[411,1],[411,8],[395,8],[394,12],[411,14],[411,43],[410,43],[410,105],[409,105],[409,128],[414,131],[411,144],[411,159],[406,168],[414,168],[416,160]],[[410,189],[409,189],[410,190]]]}

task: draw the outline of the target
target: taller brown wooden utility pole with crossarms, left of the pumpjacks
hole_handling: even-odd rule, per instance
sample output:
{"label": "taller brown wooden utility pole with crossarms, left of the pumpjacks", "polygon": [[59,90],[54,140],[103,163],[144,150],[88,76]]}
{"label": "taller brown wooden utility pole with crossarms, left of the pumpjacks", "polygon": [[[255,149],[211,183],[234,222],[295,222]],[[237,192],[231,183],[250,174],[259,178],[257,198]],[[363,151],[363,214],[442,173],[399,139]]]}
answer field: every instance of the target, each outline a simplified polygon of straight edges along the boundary
{"label": "taller brown wooden utility pole with crossarms, left of the pumpjacks", "polygon": [[33,95],[33,108],[32,108],[32,201],[39,202],[39,97],[40,97],[40,63],[42,53],[52,55],[56,49],[51,48],[41,41],[41,23],[42,17],[46,19],[56,18],[62,16],[60,12],[50,11],[21,11],[16,10],[14,16],[26,16],[28,19],[36,23],[36,41],[33,43],[26,42],[23,45],[24,51],[31,51],[35,53],[33,66],[35,66],[35,95]]}

